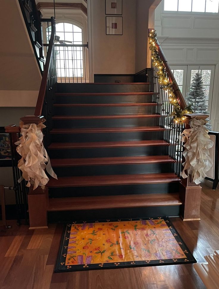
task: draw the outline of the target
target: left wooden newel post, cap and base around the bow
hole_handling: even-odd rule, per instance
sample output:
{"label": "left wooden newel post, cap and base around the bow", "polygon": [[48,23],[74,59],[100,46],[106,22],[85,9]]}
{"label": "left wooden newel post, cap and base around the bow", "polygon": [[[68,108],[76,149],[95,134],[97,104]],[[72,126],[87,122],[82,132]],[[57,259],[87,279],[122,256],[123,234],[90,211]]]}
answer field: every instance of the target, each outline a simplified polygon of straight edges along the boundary
{"label": "left wooden newel post, cap and base around the bow", "polygon": [[[43,121],[43,116],[27,115],[21,117],[24,124],[35,123],[39,124]],[[47,207],[48,207],[48,187],[38,187],[33,190],[31,185],[28,193],[28,210],[29,210],[29,230],[48,228],[47,224]]]}

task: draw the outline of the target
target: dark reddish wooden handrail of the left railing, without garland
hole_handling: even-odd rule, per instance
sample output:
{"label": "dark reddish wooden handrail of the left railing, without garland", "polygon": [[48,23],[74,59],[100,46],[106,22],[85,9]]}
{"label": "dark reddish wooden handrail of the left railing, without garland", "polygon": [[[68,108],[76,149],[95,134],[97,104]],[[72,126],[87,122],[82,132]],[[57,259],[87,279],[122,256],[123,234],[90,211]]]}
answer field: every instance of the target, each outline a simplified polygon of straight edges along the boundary
{"label": "dark reddish wooden handrail of the left railing, without garland", "polygon": [[46,63],[44,66],[43,77],[42,77],[42,81],[40,85],[36,108],[35,108],[35,113],[34,113],[35,116],[40,116],[42,113],[43,102],[44,102],[44,97],[46,93],[47,78],[48,78],[49,68],[50,68],[50,63],[51,63],[51,58],[52,58],[54,40],[55,40],[55,18],[51,17],[51,36],[49,40],[49,48],[48,48],[47,55],[46,55]]}

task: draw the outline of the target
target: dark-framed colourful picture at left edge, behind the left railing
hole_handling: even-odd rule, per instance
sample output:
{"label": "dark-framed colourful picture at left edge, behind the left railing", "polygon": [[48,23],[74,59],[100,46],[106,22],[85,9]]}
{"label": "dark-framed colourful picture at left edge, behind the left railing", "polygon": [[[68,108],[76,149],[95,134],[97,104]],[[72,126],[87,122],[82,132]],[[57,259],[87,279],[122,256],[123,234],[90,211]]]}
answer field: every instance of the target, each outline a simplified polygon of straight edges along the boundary
{"label": "dark-framed colourful picture at left edge, behind the left railing", "polygon": [[0,167],[12,166],[9,134],[0,126]]}

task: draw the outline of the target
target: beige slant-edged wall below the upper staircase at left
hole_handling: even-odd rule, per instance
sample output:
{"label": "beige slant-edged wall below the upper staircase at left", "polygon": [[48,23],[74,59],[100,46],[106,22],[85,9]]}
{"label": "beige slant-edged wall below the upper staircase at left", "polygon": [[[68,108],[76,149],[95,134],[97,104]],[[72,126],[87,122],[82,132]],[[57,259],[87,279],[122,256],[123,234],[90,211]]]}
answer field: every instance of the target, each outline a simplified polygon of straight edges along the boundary
{"label": "beige slant-edged wall below the upper staircase at left", "polygon": [[[32,106],[36,98],[33,101],[35,93],[31,91],[39,90],[41,74],[23,15],[18,0],[1,0],[0,5],[0,91],[13,91],[9,92],[10,97],[0,93],[1,106],[24,106],[24,102],[25,106]],[[22,94],[22,91],[30,92]]]}

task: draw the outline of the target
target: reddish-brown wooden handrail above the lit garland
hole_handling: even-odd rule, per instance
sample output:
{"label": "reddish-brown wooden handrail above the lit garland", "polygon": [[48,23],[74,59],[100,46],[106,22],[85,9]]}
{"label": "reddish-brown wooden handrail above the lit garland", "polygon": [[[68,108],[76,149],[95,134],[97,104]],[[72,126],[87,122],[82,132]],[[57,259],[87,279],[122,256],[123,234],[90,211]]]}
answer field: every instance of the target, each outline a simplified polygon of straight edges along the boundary
{"label": "reddish-brown wooden handrail above the lit garland", "polygon": [[177,100],[179,101],[179,105],[180,105],[180,107],[182,109],[184,109],[185,107],[187,107],[185,99],[184,99],[184,97],[183,97],[183,95],[182,95],[182,93],[181,93],[181,91],[179,89],[179,86],[178,86],[178,84],[176,82],[176,79],[175,79],[175,77],[173,75],[173,72],[171,71],[171,68],[170,68],[170,66],[169,66],[169,64],[168,64],[168,62],[166,60],[166,57],[165,57],[165,55],[163,53],[162,48],[160,47],[160,44],[159,44],[157,38],[156,38],[156,41],[157,41],[156,47],[157,47],[157,51],[158,51],[159,57],[163,61],[164,65],[165,65],[166,72],[168,74],[168,77],[169,77],[170,81],[173,84],[173,89],[174,89],[174,92],[176,94]]}

